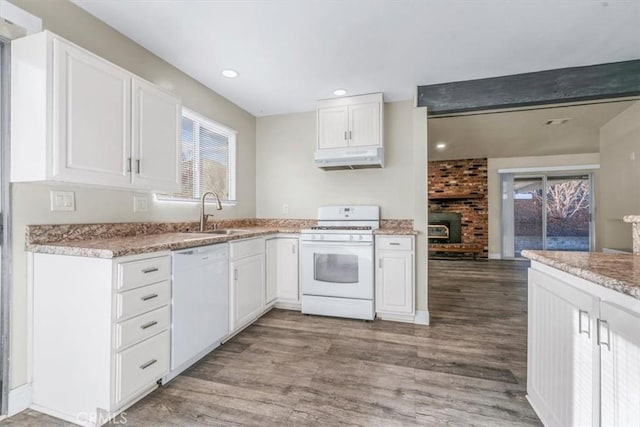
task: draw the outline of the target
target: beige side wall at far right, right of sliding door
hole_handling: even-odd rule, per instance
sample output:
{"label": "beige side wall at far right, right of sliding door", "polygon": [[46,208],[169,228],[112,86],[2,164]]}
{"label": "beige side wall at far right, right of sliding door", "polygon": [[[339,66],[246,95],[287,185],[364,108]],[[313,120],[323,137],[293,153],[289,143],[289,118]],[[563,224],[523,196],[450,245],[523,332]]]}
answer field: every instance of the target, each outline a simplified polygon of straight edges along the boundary
{"label": "beige side wall at far right, right of sliding door", "polygon": [[598,247],[631,249],[631,224],[624,215],[640,214],[640,101],[600,129]]}

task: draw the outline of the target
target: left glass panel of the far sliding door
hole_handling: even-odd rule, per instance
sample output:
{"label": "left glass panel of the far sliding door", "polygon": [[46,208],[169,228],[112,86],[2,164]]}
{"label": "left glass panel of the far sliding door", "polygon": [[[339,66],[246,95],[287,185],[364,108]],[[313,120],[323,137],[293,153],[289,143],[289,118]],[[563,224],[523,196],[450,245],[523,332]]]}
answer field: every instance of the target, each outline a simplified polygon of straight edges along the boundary
{"label": "left glass panel of the far sliding door", "polygon": [[544,179],[513,179],[514,256],[524,249],[544,248],[544,218],[542,197]]}

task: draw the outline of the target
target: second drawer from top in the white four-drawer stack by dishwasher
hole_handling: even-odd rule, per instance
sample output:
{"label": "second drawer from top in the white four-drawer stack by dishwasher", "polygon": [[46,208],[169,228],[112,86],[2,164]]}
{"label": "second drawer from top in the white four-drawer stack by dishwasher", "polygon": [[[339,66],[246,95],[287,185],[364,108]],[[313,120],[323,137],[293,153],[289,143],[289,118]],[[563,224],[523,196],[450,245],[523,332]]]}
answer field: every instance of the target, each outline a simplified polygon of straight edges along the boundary
{"label": "second drawer from top in the white four-drawer stack by dishwasher", "polygon": [[169,304],[171,282],[163,280],[153,285],[121,292],[116,297],[117,318],[135,316]]}

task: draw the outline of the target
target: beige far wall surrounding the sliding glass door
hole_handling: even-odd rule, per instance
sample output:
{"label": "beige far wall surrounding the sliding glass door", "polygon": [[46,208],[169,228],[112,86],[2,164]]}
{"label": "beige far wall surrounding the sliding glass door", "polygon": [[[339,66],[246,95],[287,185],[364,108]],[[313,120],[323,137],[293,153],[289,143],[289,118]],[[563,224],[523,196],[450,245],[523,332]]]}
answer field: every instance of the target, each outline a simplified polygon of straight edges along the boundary
{"label": "beige far wall surrounding the sliding glass door", "polygon": [[[500,200],[499,169],[597,165],[599,163],[600,155],[598,153],[489,159],[487,165],[489,174],[489,256],[495,258],[502,253],[502,203]],[[595,174],[595,181],[597,185],[598,173]],[[597,239],[596,234],[596,241]]]}

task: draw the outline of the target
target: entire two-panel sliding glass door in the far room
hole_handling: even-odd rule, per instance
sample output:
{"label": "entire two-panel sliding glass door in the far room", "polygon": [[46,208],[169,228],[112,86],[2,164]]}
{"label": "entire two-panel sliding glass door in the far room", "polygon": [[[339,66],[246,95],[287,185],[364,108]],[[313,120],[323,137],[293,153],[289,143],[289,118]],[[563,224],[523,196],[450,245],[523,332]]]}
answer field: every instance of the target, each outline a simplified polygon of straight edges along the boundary
{"label": "entire two-panel sliding glass door in the far room", "polygon": [[593,248],[591,175],[518,176],[503,183],[503,257],[525,249]]}

